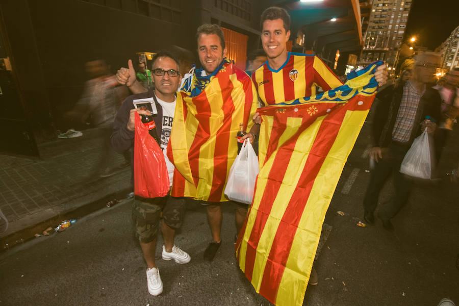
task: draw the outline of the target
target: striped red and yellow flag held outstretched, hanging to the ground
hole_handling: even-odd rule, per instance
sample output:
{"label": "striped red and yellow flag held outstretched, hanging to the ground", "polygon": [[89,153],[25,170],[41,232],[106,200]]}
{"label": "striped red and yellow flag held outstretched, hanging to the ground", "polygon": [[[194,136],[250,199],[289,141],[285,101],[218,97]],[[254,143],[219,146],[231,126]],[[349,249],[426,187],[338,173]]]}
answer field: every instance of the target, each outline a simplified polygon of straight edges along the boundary
{"label": "striped red and yellow flag held outstretched, hanging to the ground", "polygon": [[353,72],[335,90],[258,110],[261,170],[236,253],[256,291],[276,305],[302,304],[325,213],[374,99],[379,64]]}

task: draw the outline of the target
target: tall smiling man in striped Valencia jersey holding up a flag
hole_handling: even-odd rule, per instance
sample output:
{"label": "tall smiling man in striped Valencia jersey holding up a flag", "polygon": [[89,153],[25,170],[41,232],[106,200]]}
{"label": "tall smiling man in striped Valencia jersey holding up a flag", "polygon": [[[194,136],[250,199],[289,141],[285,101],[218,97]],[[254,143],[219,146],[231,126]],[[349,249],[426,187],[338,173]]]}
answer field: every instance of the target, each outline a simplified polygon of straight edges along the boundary
{"label": "tall smiling man in striped Valencia jersey holding up a flag", "polygon": [[[261,15],[260,26],[268,61],[253,72],[252,80],[265,106],[310,96],[314,94],[312,88],[315,85],[327,91],[343,84],[318,57],[287,51],[290,16],[286,10],[267,8]],[[385,65],[377,68],[375,79],[380,86],[386,83]],[[261,117],[258,113],[253,121],[257,123],[254,126],[260,126]],[[318,277],[313,267],[309,284],[317,283]]]}

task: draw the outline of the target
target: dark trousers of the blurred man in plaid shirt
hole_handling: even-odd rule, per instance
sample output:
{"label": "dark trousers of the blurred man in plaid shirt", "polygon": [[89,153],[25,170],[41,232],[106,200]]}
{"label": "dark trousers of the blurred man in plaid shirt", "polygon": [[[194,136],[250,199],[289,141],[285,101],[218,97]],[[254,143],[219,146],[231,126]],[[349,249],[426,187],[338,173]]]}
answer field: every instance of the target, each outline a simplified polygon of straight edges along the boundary
{"label": "dark trousers of the blurred man in plaid shirt", "polygon": [[368,184],[364,198],[365,213],[374,213],[378,204],[379,192],[386,183],[388,177],[393,175],[395,193],[390,200],[379,209],[379,217],[389,220],[395,217],[400,209],[405,206],[413,188],[412,180],[399,172],[400,164],[410,147],[390,144],[382,151],[382,159],[375,163],[375,168]]}

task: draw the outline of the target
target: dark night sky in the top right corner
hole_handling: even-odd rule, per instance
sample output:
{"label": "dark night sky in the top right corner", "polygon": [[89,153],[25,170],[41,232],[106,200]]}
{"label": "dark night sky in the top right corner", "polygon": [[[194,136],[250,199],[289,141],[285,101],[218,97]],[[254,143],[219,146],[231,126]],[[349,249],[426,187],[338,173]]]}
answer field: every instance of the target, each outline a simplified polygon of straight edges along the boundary
{"label": "dark night sky in the top right corner", "polygon": [[417,45],[434,50],[459,25],[458,6],[457,0],[413,0],[405,39],[416,36]]}

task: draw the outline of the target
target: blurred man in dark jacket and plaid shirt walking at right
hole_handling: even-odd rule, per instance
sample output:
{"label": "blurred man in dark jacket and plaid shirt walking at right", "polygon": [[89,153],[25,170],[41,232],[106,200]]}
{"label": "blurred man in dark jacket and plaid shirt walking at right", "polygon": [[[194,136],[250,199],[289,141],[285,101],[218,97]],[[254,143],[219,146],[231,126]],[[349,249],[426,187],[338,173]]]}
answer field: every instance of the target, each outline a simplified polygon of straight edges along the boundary
{"label": "blurred man in dark jacket and plaid shirt walking at right", "polygon": [[440,95],[428,86],[439,64],[438,55],[423,53],[416,59],[412,80],[398,87],[390,86],[376,95],[379,104],[373,121],[374,147],[370,150],[376,166],[363,203],[364,219],[369,224],[374,223],[379,192],[391,173],[395,194],[378,212],[386,230],[394,230],[390,219],[410,196],[412,182],[399,169],[413,140],[425,127],[429,133],[433,132],[440,120]]}

